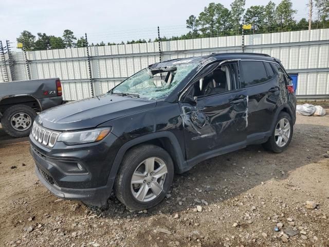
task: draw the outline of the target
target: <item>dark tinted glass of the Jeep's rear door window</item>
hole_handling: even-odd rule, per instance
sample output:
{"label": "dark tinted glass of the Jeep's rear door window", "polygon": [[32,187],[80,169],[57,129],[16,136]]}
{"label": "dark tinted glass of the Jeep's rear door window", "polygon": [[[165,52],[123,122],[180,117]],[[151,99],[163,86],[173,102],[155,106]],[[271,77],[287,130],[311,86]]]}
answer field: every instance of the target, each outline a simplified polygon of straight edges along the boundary
{"label": "dark tinted glass of the Jeep's rear door window", "polygon": [[264,63],[261,61],[241,61],[242,87],[252,86],[268,80]]}

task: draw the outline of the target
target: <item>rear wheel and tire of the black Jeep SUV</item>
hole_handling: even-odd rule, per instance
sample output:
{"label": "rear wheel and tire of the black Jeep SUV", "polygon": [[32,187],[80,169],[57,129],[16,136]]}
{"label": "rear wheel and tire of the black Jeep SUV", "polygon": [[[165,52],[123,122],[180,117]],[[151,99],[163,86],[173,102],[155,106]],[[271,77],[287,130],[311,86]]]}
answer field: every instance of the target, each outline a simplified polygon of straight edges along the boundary
{"label": "rear wheel and tire of the black Jeep SUV", "polygon": [[[289,133],[287,123],[289,123]],[[282,126],[285,126],[285,128],[282,128]],[[278,119],[276,120],[275,129],[273,130],[272,135],[268,138],[267,142],[263,144],[263,147],[272,152],[281,153],[289,146],[293,133],[294,124],[290,115],[286,112],[280,112]]]}

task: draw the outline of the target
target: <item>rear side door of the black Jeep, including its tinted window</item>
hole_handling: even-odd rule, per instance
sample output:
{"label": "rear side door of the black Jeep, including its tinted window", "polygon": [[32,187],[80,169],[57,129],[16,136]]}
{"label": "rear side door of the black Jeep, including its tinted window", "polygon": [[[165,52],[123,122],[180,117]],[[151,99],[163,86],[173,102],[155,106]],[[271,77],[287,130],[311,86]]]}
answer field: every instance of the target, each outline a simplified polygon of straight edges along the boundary
{"label": "rear side door of the black Jeep, including its tinted window", "polygon": [[240,68],[241,88],[248,95],[247,140],[252,141],[271,130],[280,99],[280,85],[269,62],[241,60]]}

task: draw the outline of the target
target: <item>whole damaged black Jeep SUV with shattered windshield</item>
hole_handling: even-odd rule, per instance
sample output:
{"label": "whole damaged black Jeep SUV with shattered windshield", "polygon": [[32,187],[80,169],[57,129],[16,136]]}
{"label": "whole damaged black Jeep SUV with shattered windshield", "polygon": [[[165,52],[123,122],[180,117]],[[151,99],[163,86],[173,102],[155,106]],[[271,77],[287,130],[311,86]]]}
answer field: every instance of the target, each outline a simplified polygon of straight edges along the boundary
{"label": "whole damaged black Jeep SUV with shattered windshield", "polygon": [[250,144],[282,152],[296,96],[280,60],[212,54],[152,64],[108,93],[42,112],[30,133],[40,181],[57,197],[131,209],[166,195],[174,172]]}

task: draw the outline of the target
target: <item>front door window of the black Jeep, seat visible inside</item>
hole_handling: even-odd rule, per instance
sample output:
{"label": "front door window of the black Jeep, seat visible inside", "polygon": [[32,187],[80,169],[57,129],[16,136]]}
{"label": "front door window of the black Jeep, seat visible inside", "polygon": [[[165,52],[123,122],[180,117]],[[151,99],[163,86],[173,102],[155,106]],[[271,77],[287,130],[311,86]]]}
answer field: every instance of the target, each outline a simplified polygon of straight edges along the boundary
{"label": "front door window of the black Jeep, seat visible inside", "polygon": [[235,85],[233,64],[224,64],[216,67],[212,72],[194,83],[190,94],[202,97],[231,91]]}

